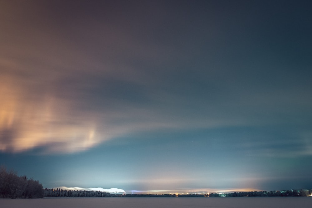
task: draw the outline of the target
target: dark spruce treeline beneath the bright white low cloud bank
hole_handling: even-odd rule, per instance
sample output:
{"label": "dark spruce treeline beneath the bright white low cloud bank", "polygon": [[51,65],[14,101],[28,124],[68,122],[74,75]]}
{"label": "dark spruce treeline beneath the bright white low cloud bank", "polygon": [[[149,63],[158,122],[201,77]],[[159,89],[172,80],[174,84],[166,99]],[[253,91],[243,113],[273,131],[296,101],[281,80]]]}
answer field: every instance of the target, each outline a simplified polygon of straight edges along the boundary
{"label": "dark spruce treeline beneath the bright white low cloud bank", "polygon": [[104,191],[44,189],[44,197],[119,197],[122,194],[111,194]]}

